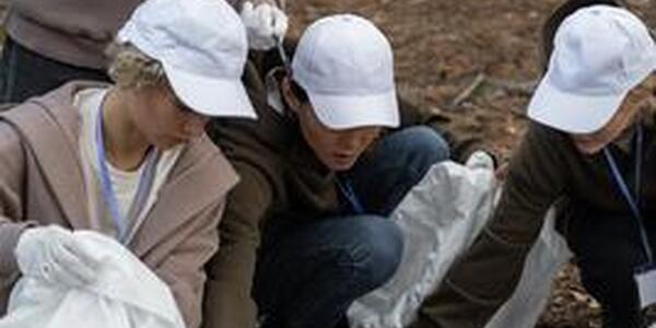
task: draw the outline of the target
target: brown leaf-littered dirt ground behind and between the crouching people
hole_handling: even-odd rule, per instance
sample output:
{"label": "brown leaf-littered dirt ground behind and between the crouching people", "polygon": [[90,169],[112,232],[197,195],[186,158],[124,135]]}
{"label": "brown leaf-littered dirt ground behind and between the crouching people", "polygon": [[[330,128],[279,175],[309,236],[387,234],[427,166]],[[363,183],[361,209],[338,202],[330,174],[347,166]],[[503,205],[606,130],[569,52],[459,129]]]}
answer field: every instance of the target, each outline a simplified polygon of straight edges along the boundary
{"label": "brown leaf-littered dirt ground behind and between the crouching people", "polygon": [[[525,106],[540,74],[538,32],[561,0],[305,0],[289,1],[292,35],[313,20],[352,12],[375,21],[396,51],[400,92],[417,105],[459,120],[508,154],[525,127]],[[656,24],[654,0],[629,1]],[[540,328],[600,327],[599,305],[577,270],[559,274]]]}

